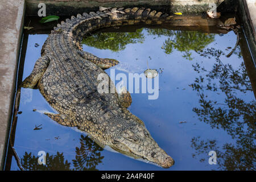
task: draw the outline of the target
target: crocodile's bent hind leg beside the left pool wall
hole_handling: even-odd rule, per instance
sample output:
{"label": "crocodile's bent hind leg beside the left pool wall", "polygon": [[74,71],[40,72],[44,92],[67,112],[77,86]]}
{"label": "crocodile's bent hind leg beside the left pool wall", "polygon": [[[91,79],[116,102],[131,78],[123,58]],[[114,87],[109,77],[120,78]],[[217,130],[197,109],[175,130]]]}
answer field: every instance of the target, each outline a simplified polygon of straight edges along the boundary
{"label": "crocodile's bent hind leg beside the left pool wall", "polygon": [[23,88],[31,88],[35,89],[36,85],[38,84],[38,81],[40,78],[44,75],[44,72],[46,71],[47,67],[49,65],[49,59],[46,56],[40,57],[34,66],[33,71],[31,72],[30,76],[28,76],[23,82],[22,87]]}

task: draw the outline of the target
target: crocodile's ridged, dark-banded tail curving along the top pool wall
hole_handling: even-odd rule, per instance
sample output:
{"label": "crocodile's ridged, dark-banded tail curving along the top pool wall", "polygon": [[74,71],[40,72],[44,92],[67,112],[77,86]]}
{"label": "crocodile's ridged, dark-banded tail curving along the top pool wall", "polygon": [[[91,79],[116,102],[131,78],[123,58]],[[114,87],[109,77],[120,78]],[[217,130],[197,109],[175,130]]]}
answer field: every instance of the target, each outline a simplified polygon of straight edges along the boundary
{"label": "crocodile's ridged, dark-banded tail curving along the top pool wall", "polygon": [[[81,41],[82,36],[99,28],[138,23],[162,24],[172,17],[172,15],[163,14],[160,11],[157,12],[144,7],[134,7],[132,9],[100,7],[100,10],[97,12],[77,14],[76,17],[71,16],[71,19],[66,19],[65,22],[57,24],[51,34],[68,34],[77,44],[77,42]],[[80,45],[77,45],[77,47],[80,47]]]}

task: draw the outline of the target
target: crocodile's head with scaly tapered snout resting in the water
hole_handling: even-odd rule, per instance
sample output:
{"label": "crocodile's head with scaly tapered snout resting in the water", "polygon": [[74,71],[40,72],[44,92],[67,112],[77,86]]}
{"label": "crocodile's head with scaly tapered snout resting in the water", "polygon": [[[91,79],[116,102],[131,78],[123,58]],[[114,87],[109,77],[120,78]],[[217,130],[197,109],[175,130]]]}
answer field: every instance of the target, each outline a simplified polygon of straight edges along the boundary
{"label": "crocodile's head with scaly tapered snout resting in the water", "polygon": [[130,127],[112,138],[110,147],[127,156],[144,159],[163,168],[169,168],[174,164],[174,160],[158,146],[142,124]]}

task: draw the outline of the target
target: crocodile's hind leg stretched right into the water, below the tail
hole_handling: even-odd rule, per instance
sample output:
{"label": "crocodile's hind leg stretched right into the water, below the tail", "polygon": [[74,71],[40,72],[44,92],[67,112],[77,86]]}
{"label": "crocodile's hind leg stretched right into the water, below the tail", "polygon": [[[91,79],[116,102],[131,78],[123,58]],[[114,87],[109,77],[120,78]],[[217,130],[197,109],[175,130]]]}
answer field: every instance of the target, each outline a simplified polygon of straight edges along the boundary
{"label": "crocodile's hind leg stretched right into the water, below the tail", "polygon": [[102,69],[108,69],[110,67],[113,67],[114,65],[117,65],[119,62],[115,59],[108,59],[108,58],[99,58],[92,53],[85,52],[79,50],[79,55],[86,59],[91,61],[92,63],[96,64],[98,67]]}

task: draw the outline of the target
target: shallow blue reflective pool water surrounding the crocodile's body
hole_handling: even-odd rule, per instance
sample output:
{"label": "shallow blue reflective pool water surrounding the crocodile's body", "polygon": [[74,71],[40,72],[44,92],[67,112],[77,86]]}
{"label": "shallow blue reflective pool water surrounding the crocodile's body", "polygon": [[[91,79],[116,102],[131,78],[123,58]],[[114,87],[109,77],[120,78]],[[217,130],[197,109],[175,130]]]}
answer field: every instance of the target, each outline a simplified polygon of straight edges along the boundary
{"label": "shallow blue reflective pool water surrounding the crocodile's body", "polygon": [[[47,36],[29,35],[22,80],[30,75]],[[55,111],[39,90],[22,88],[14,147],[24,169],[255,169],[254,93],[240,47],[225,56],[236,44],[234,32],[142,28],[97,33],[83,43],[85,51],[117,59],[116,74],[128,77],[128,73],[157,69],[159,97],[148,100],[148,93],[131,93],[129,110],[142,119],[175,165],[163,169],[99,147],[86,134],[44,115]],[[110,69],[106,72],[110,75]],[[34,130],[39,125],[42,129]],[[47,153],[46,166],[38,164],[39,151]],[[217,164],[209,164],[210,151],[217,152]],[[13,157],[11,170],[17,169]]]}

